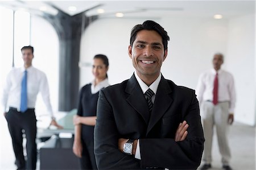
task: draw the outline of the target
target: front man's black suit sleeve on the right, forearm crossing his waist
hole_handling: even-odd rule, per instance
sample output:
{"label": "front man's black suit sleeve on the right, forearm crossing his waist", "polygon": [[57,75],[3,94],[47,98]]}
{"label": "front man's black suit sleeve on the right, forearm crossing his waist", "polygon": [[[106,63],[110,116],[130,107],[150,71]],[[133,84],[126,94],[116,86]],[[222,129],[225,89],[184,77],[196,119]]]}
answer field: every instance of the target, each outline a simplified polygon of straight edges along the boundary
{"label": "front man's black suit sleeve on the right, forearm crossing his waist", "polygon": [[184,119],[189,128],[188,136],[182,142],[175,142],[170,138],[140,139],[142,168],[197,169],[199,167],[204,149],[204,135],[195,93]]}

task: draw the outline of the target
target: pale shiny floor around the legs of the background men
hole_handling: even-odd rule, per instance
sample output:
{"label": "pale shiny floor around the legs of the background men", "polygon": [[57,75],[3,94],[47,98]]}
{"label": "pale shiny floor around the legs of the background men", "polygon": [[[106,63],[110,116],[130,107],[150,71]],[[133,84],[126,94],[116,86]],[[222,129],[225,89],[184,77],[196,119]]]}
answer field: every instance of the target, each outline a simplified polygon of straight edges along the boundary
{"label": "pale shiny floor around the legs of the background men", "polygon": [[[2,116],[0,121],[0,169],[16,169],[7,123]],[[232,168],[234,170],[254,170],[255,128],[241,123],[234,123],[234,125],[230,127],[229,138],[232,150],[232,160],[230,163]],[[39,169],[39,163],[37,167],[37,169]],[[221,156],[218,152],[216,136],[214,136],[212,169],[220,170],[222,169],[221,167]]]}

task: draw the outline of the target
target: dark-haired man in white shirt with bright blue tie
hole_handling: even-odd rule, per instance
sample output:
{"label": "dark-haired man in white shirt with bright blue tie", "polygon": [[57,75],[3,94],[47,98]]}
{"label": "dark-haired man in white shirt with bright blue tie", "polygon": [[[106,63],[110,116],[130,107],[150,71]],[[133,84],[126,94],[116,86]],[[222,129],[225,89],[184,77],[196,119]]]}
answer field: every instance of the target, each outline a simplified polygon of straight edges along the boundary
{"label": "dark-haired man in white shirt with bright blue tie", "polygon": [[[8,123],[18,169],[36,169],[36,96],[41,92],[43,101],[51,115],[51,125],[59,126],[53,117],[49,100],[49,87],[46,74],[32,67],[34,48],[24,46],[21,49],[24,65],[14,68],[7,76],[2,93],[3,114]],[[7,111],[7,105],[9,111]],[[7,112],[6,112],[7,111]],[[22,130],[27,139],[27,160],[24,159]]]}

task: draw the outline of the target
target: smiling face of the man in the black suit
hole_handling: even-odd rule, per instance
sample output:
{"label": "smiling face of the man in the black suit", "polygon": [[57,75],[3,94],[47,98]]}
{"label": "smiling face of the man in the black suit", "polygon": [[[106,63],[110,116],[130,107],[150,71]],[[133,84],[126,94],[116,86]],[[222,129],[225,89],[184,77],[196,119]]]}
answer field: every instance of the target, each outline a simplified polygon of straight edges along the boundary
{"label": "smiling face of the man in the black suit", "polygon": [[139,31],[133,47],[129,45],[128,52],[138,76],[159,76],[160,68],[167,56],[167,49],[164,51],[162,37],[158,32]]}

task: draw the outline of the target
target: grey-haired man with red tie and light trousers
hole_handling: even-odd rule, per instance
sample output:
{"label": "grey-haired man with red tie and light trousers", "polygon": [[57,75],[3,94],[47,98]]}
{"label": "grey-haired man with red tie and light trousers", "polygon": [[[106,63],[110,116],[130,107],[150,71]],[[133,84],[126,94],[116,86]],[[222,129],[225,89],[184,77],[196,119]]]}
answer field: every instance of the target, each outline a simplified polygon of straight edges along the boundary
{"label": "grey-haired man with red tie and light trousers", "polygon": [[228,144],[228,127],[234,121],[236,93],[232,74],[221,69],[224,56],[216,53],[213,56],[213,69],[202,73],[196,88],[200,103],[201,118],[204,128],[204,165],[201,169],[211,168],[211,151],[213,126],[216,126],[218,146],[222,156],[222,168],[232,169],[229,165],[230,148]]}

